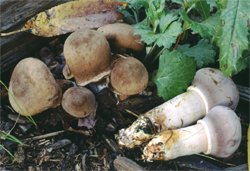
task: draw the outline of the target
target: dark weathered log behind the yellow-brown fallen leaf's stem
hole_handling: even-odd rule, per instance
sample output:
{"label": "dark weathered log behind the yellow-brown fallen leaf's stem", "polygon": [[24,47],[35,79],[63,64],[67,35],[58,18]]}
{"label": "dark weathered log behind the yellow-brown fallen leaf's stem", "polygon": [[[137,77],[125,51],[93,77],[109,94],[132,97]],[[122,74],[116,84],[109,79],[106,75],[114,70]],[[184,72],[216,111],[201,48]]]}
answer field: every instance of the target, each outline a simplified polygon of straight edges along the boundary
{"label": "dark weathered log behind the yellow-brown fallen leaf's stem", "polygon": [[[72,1],[44,1],[44,0],[1,0],[0,18],[1,32],[8,32],[21,28],[23,24],[41,11],[58,4]],[[49,38],[37,37],[30,33],[17,33],[12,36],[0,37],[0,70],[4,73],[11,69],[19,60],[28,57],[41,48],[43,42]]]}

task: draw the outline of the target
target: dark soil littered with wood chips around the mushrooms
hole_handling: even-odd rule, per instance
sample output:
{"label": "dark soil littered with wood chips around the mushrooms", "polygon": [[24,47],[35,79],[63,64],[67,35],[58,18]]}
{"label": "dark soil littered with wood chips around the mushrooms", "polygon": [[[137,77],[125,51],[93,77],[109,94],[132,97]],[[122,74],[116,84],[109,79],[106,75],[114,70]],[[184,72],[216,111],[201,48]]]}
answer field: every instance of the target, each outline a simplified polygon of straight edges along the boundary
{"label": "dark soil littered with wood chips around the mushrooms", "polygon": [[[63,79],[63,41],[55,39],[46,48],[34,54],[51,68],[56,79]],[[236,84],[249,87],[248,71],[233,79]],[[5,83],[8,85],[8,78]],[[67,82],[64,89],[70,86],[72,84]],[[141,148],[121,149],[117,145],[115,134],[136,119],[131,112],[142,114],[163,103],[156,95],[156,88],[149,86],[144,94],[131,96],[119,104],[110,88],[99,91],[96,90],[95,84],[89,85],[88,88],[95,93],[98,100],[97,122],[95,127],[89,130],[78,127],[77,119],[70,117],[61,107],[34,116],[37,124],[35,126],[26,118],[18,117],[11,109],[7,92],[1,87],[0,130],[11,131],[11,135],[21,140],[24,145],[1,139],[0,144],[15,158],[0,147],[0,170],[115,170],[113,161],[118,155],[133,160],[145,170],[224,170],[236,166],[240,167],[239,170],[247,169],[249,102],[241,99],[236,110],[242,123],[242,141],[231,157],[218,159],[206,155],[192,155],[171,161],[146,162],[141,158]]]}

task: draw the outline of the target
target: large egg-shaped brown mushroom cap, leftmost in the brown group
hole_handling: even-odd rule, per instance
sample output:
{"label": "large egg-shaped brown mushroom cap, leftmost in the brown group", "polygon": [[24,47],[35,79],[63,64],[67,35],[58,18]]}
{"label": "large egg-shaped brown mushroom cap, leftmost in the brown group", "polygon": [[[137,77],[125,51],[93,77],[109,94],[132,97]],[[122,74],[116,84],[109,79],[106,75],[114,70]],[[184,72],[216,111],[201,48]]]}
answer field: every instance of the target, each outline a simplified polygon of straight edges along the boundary
{"label": "large egg-shaped brown mushroom cap, leftmost in the brown group", "polygon": [[60,105],[61,89],[49,68],[39,59],[25,58],[14,68],[9,83],[9,101],[24,116],[33,116]]}

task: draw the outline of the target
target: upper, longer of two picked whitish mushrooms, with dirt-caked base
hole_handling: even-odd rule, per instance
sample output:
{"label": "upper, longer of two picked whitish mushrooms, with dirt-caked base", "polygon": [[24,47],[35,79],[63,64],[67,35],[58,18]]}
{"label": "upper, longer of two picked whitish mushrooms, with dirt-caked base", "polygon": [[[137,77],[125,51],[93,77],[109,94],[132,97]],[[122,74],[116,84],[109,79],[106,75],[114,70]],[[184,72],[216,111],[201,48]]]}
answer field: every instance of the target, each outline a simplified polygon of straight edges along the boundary
{"label": "upper, longer of two picked whitish mushrooms, with dirt-caked base", "polygon": [[121,146],[133,148],[150,140],[157,132],[190,125],[214,106],[235,109],[239,92],[234,82],[220,70],[203,68],[196,72],[187,92],[155,107],[139,117],[117,136]]}

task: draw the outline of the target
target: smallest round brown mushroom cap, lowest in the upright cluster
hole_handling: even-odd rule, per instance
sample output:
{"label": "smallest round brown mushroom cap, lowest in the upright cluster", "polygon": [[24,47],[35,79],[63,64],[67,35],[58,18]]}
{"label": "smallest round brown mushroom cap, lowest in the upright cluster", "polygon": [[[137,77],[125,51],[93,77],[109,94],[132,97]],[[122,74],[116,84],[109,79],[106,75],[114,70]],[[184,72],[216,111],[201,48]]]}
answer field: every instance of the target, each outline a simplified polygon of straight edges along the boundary
{"label": "smallest round brown mushroom cap, lowest in the upright cluster", "polygon": [[71,87],[63,94],[62,107],[76,118],[84,118],[96,112],[94,94],[84,87]]}

